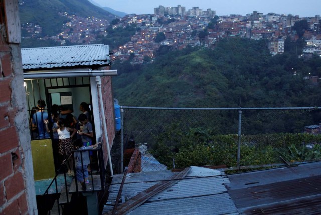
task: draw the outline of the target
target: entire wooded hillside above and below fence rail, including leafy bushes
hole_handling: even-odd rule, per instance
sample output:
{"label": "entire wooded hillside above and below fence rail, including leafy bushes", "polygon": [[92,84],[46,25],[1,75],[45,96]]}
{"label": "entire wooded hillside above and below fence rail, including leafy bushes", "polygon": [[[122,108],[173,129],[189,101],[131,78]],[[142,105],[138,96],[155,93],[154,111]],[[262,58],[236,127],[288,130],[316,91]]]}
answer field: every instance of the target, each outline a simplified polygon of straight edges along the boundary
{"label": "entire wooded hillside above and below fence rail, including leafy bushes", "polygon": [[[321,59],[298,58],[302,44],[286,40],[286,52],[274,57],[264,40],[229,38],[214,49],[170,51],[163,46],[152,64],[115,61],[112,68],[119,75],[113,78],[114,97],[120,105],[139,107],[320,106],[319,84],[304,77],[321,77]],[[300,134],[320,119],[319,111],[244,111],[240,165],[279,163],[279,156],[287,161],[320,159],[317,144],[305,147],[319,143],[320,137]],[[173,159],[177,168],[236,166],[237,114],[222,111],[209,119],[192,112],[125,110],[125,120],[127,131],[145,135],[143,142],[169,168]],[[202,120],[206,128],[200,126]]]}

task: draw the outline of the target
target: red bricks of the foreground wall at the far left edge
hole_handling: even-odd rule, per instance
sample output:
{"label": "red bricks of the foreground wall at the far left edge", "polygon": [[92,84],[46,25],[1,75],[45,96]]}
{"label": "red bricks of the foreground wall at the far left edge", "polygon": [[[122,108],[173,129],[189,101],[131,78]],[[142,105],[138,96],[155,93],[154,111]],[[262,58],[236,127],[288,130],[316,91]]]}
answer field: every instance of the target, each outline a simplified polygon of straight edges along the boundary
{"label": "red bricks of the foreground wall at the far left edge", "polygon": [[[1,41],[0,44],[0,213],[27,214],[27,198],[24,193],[25,183],[21,162],[20,145],[15,125],[18,112],[11,98],[16,71],[13,70],[15,59],[11,53],[10,44]],[[21,77],[21,87],[23,80]]]}

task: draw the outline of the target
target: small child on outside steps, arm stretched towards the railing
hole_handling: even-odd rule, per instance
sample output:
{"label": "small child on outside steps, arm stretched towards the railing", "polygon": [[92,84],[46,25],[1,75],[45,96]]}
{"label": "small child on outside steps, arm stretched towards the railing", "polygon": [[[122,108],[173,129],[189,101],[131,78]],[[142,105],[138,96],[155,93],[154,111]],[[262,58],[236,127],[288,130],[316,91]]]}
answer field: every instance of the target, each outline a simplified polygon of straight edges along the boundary
{"label": "small child on outside steps, arm stretched towards the railing", "polygon": [[[99,143],[96,143],[95,145],[91,145],[91,146],[84,146],[83,142],[80,139],[77,139],[75,141],[75,146],[76,148],[78,148],[78,150],[87,150],[87,149],[92,149],[98,146]],[[89,183],[88,180],[88,169],[87,169],[87,165],[90,164],[89,161],[89,152],[88,151],[84,151],[84,152],[76,152],[74,154],[75,160],[76,160],[76,176],[77,176],[77,180],[80,182],[81,184],[81,189],[86,191],[86,184]]]}

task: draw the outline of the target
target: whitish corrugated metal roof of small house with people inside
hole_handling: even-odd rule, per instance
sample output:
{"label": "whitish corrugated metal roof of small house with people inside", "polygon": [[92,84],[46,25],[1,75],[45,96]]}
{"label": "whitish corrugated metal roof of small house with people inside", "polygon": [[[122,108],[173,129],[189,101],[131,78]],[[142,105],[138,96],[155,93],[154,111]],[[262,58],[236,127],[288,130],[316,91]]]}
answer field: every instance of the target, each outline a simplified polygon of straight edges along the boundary
{"label": "whitish corrugated metal roof of small house with people inside", "polygon": [[23,69],[48,69],[109,64],[104,44],[21,49]]}

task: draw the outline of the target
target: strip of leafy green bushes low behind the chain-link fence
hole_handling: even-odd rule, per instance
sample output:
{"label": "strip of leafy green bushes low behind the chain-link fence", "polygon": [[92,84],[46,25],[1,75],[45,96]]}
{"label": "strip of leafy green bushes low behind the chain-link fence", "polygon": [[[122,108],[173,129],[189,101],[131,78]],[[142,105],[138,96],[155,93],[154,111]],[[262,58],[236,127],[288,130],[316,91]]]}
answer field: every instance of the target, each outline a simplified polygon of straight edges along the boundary
{"label": "strip of leafy green bushes low behind the chain-link fence", "polygon": [[[321,142],[319,135],[245,135],[241,142],[241,166],[282,163],[283,159],[287,162],[321,159],[320,145],[314,144]],[[237,147],[236,134],[217,135],[200,128],[182,132],[178,127],[169,126],[158,136],[151,153],[169,168],[173,168],[173,159],[176,168],[221,164],[234,167]]]}

